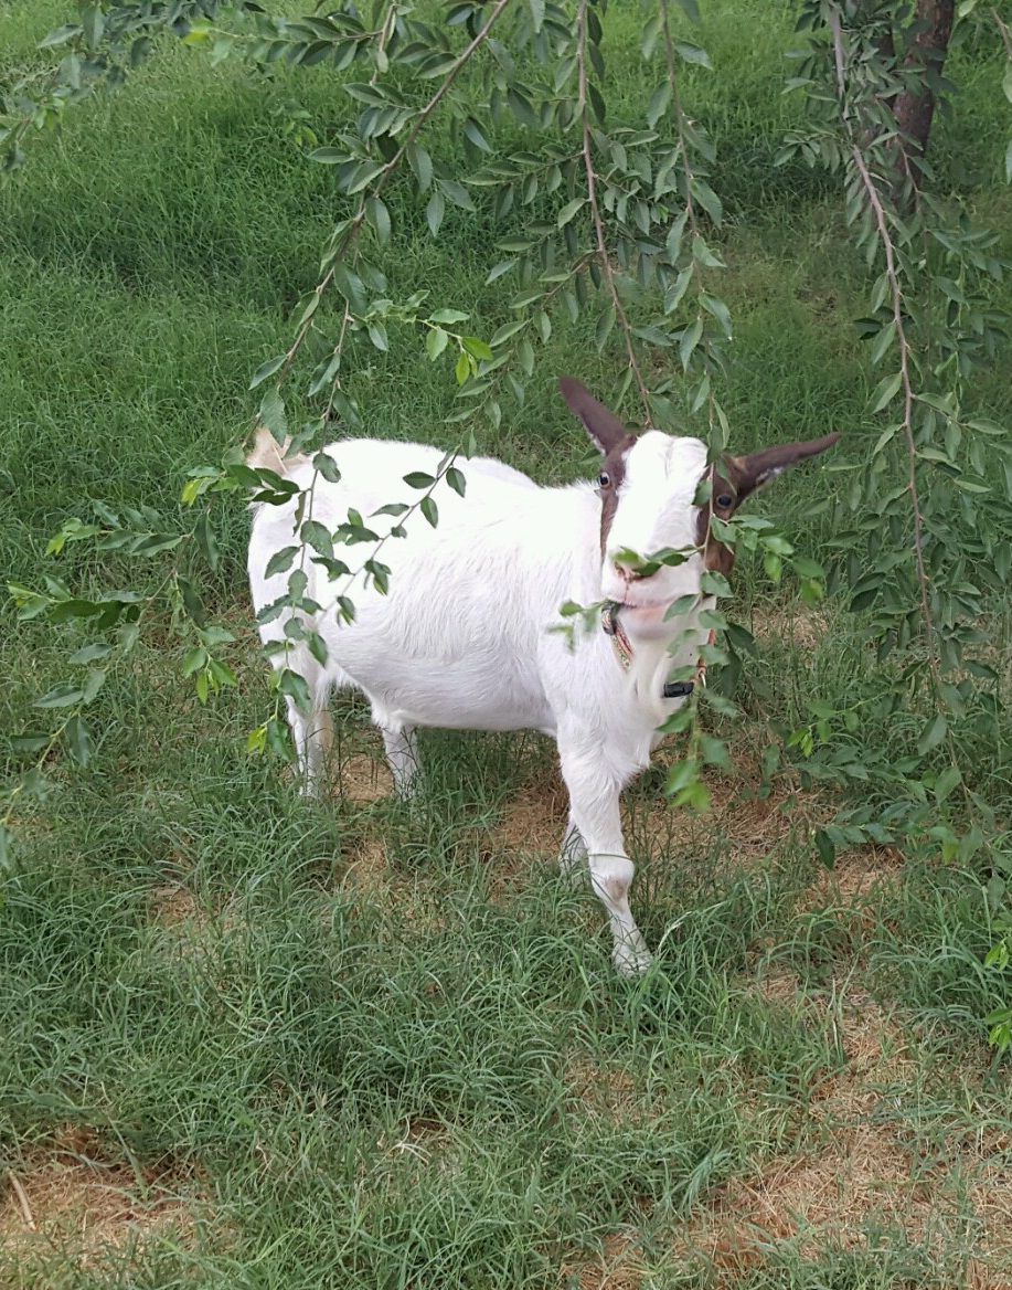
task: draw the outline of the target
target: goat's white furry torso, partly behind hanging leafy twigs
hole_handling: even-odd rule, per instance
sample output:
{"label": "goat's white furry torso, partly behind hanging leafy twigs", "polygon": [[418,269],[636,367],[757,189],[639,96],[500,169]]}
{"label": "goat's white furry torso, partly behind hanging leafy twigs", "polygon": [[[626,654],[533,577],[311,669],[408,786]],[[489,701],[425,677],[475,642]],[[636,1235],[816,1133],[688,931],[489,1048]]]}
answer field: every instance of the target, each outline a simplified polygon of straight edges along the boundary
{"label": "goat's white furry torso, partly behind hanging leafy twigs", "polygon": [[[345,440],[326,450],[340,481],[316,477],[312,517],[334,530],[348,510],[384,534],[404,522],[406,537],[389,538],[376,559],[391,569],[389,592],[361,577],[331,583],[307,565],[309,595],[324,605],[317,630],[333,662],[374,703],[427,725],[509,729],[550,725],[540,679],[541,655],[565,650],[548,628],[567,599],[594,599],[598,503],[587,485],[541,488],[491,458],[460,461],[465,497],[440,482],[433,491],[438,524],[419,511],[404,520],[374,516],[391,502],[414,504],[419,490],[404,476],[436,475],[442,452],[422,444]],[[312,467],[291,472],[306,489]],[[263,506],[253,526],[250,582],[262,606],[284,595],[287,573],[264,577],[271,555],[297,538],[294,504]],[[308,507],[307,507],[307,519]],[[373,555],[373,543],[338,547],[352,568]],[[335,595],[348,595],[356,620],[339,626]],[[284,618],[267,635],[280,637]]]}

